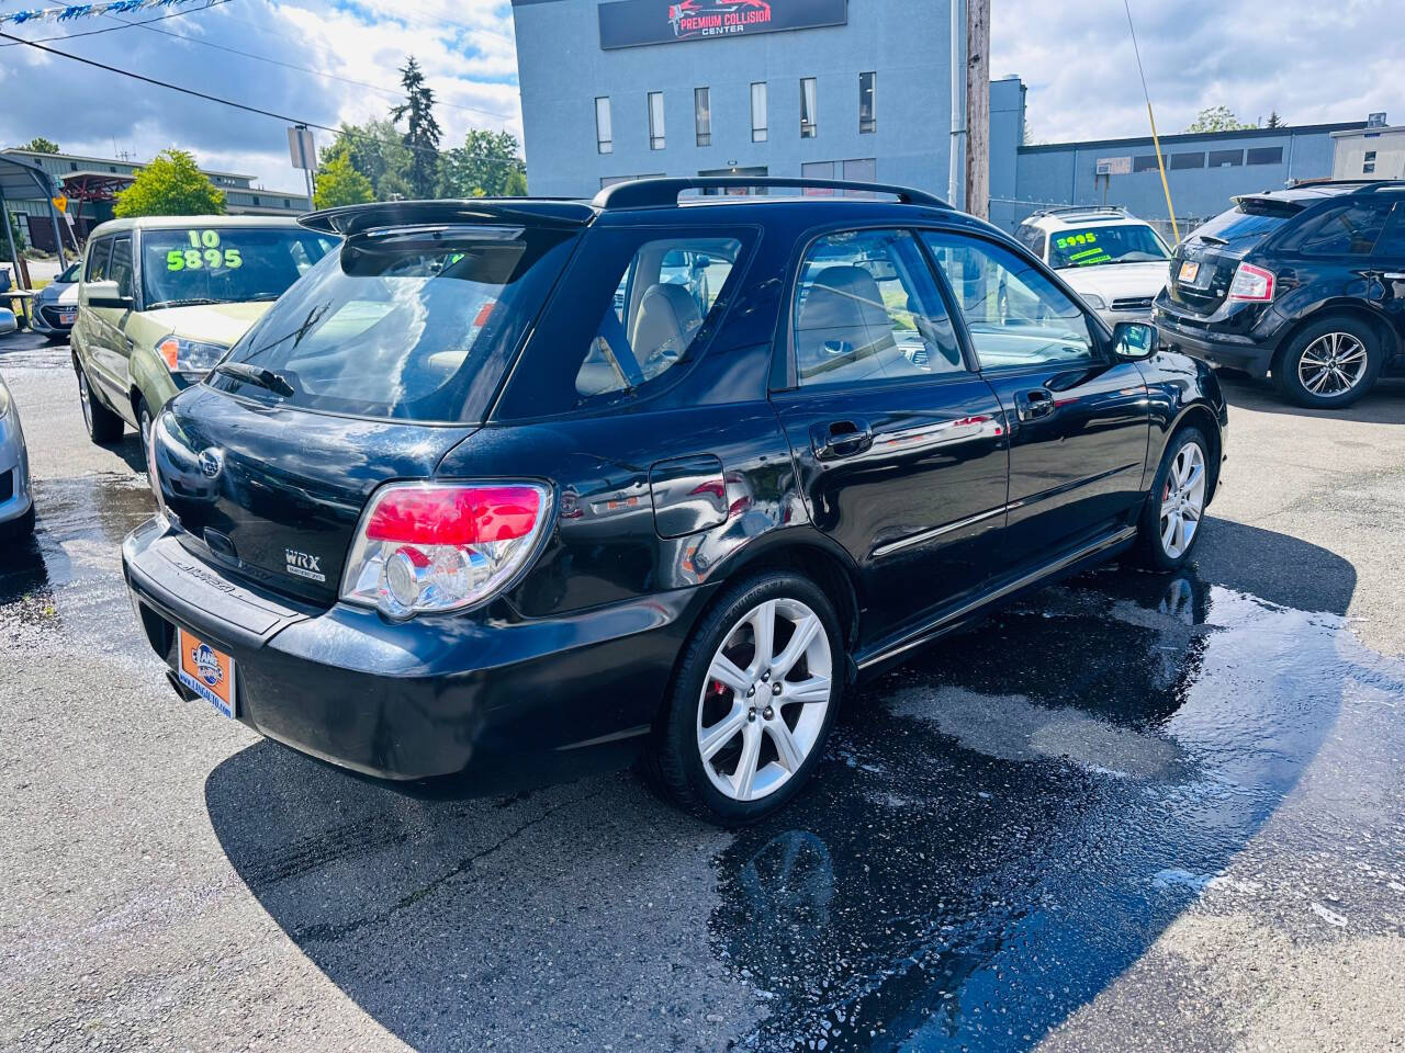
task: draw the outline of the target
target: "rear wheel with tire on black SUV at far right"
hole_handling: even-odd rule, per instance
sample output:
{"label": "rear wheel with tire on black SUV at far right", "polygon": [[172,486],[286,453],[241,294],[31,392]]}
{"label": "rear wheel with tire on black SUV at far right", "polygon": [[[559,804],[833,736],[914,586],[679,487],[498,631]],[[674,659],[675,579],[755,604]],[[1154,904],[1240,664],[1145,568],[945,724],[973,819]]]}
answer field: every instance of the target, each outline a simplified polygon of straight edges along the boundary
{"label": "rear wheel with tire on black SUV at far right", "polygon": [[1273,359],[1273,383],[1314,410],[1350,406],[1375,385],[1384,354],[1375,331],[1352,314],[1329,314],[1298,333]]}

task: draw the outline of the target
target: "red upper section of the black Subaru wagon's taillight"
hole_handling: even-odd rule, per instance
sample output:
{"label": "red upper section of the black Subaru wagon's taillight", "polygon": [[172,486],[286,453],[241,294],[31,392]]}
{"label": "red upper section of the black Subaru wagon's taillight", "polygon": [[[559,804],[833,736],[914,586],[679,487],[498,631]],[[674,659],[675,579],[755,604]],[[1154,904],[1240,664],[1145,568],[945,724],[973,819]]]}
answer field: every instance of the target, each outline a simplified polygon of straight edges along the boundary
{"label": "red upper section of the black Subaru wagon's taillight", "polygon": [[531,534],[541,494],[530,486],[392,490],[365,526],[371,541],[410,545],[478,545]]}

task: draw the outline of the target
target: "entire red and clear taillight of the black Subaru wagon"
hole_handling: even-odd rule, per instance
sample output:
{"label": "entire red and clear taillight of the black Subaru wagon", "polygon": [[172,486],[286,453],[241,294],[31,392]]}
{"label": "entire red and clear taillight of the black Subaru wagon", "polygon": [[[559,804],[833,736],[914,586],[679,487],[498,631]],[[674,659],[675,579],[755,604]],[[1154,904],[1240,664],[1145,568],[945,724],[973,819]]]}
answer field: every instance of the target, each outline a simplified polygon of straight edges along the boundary
{"label": "entire red and clear taillight of the black Subaru wagon", "polygon": [[341,598],[392,618],[457,611],[503,588],[537,550],[538,483],[392,483],[371,498]]}

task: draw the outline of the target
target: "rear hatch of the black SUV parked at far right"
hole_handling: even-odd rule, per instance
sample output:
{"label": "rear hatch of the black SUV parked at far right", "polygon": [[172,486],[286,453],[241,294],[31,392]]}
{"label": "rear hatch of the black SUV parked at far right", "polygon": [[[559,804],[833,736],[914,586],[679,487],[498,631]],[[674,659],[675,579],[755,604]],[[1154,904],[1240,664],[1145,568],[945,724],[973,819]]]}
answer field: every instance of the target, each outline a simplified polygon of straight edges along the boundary
{"label": "rear hatch of the black SUV parked at far right", "polygon": [[1235,206],[1176,246],[1170,299],[1196,314],[1214,314],[1229,293],[1239,263],[1304,208],[1276,197],[1235,198]]}

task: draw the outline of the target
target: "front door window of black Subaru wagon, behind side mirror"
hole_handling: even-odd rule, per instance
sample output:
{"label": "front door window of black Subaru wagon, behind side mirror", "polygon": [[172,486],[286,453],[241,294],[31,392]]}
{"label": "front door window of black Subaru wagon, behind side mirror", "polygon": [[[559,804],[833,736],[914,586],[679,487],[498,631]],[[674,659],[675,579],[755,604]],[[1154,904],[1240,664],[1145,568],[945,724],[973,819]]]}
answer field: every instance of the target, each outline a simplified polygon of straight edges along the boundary
{"label": "front door window of black Subaru wagon, behind side mirror", "polygon": [[955,291],[982,369],[1097,361],[1083,309],[1031,264],[962,234],[923,237]]}

